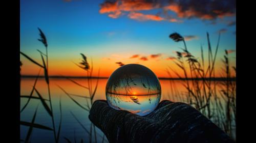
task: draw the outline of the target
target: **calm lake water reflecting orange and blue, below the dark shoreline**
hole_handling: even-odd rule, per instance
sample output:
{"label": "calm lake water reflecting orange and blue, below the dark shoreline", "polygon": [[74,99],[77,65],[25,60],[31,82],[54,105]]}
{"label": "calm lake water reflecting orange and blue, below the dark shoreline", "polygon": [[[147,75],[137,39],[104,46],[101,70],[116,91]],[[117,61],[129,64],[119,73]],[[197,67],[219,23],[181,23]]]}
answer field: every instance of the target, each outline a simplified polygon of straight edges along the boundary
{"label": "calm lake water reflecting orange and blue, below the dark shoreline", "polygon": [[[82,78],[75,78],[73,79],[80,84],[87,85],[87,79]],[[21,83],[21,95],[29,95],[34,84],[35,78],[22,78]],[[95,94],[95,100],[106,100],[105,96],[105,85],[108,79],[99,79],[98,88]],[[201,81],[199,81],[201,82]],[[93,87],[95,87],[96,79],[92,80]],[[172,86],[171,86],[171,84]],[[175,84],[174,84],[175,83]],[[183,86],[184,81],[182,80],[160,80],[161,84],[161,99],[162,100],[171,100],[174,102],[187,102],[187,91]],[[175,86],[174,86],[175,85]],[[75,117],[80,121],[80,123],[90,131],[91,122],[88,118],[89,112],[79,107],[76,103],[74,103],[58,86],[63,88],[70,94],[75,95],[82,95],[82,96],[89,96],[88,91],[84,88],[79,87],[78,85],[74,84],[73,82],[67,79],[61,78],[51,78],[50,79],[50,89],[51,89],[51,100],[53,104],[53,115],[56,129],[59,125],[59,100],[61,97],[61,106],[62,106],[62,125],[60,131],[60,141],[59,142],[66,142],[65,138],[69,138],[72,142],[76,138],[76,141],[83,139],[83,142],[89,142],[89,134],[84,130],[80,124],[76,121],[76,119],[72,116],[72,113]],[[217,91],[221,89],[216,87]],[[44,78],[38,78],[36,89],[42,95],[43,98],[48,98],[48,90],[47,84]],[[174,94],[174,93],[177,93]],[[38,97],[38,95],[34,92],[33,96]],[[86,106],[87,102],[85,98],[75,97],[72,96],[76,101],[78,101],[81,105]],[[21,98],[20,99],[20,108],[22,108],[25,103],[27,102],[28,98]],[[224,101],[221,101],[224,102]],[[34,123],[38,123],[41,125],[45,125],[47,127],[52,127],[52,121],[45,110],[44,106],[42,106],[40,100],[38,99],[31,99],[28,106],[25,110],[20,113],[20,120],[31,122],[35,109],[38,106],[37,115]],[[236,129],[236,127],[234,127]],[[233,130],[234,130],[233,129]],[[27,126],[20,126],[20,139],[26,138],[27,132],[29,127]],[[97,142],[102,141],[103,133],[96,129],[97,132]],[[232,133],[234,135],[234,133]],[[33,128],[33,132],[31,135],[31,142],[54,142],[53,131],[49,130],[42,130]],[[92,142],[95,142],[94,137],[92,137]],[[104,142],[108,142],[104,137]]]}

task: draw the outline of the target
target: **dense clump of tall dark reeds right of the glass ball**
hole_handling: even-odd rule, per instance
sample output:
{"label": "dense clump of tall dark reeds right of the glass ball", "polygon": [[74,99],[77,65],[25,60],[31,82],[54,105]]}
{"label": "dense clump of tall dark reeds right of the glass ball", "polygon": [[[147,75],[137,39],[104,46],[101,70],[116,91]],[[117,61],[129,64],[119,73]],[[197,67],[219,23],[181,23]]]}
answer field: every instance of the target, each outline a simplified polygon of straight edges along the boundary
{"label": "dense clump of tall dark reeds right of the glass ball", "polygon": [[[228,62],[228,51],[226,50],[223,60],[223,63],[225,64],[225,78],[223,79],[225,80],[221,81],[221,84],[218,84],[215,80],[215,64],[221,35],[219,33],[215,52],[212,51],[209,34],[207,33],[206,36],[208,46],[208,64],[206,64],[204,61],[205,58],[202,46],[201,59],[196,58],[193,54],[189,52],[186,47],[185,40],[180,34],[171,34],[169,38],[173,39],[175,42],[182,41],[184,43],[185,48],[182,49],[182,51],[176,52],[177,58],[176,60],[174,60],[174,63],[177,65],[177,67],[179,67],[183,71],[183,75],[181,75],[171,67],[168,67],[166,69],[166,72],[168,73],[170,78],[172,78],[172,74],[170,73],[170,71],[172,71],[179,78],[184,79],[183,85],[187,91],[187,103],[201,111],[206,117],[214,121],[226,133],[232,136],[231,124],[233,123],[233,119],[236,120],[236,82],[231,81],[232,77],[230,76],[229,70],[230,67]],[[185,65],[188,65],[189,68],[187,69]],[[236,71],[236,67],[233,67],[233,69]],[[188,77],[187,73],[190,73],[190,77]],[[201,79],[202,81],[199,81],[198,79]],[[219,85],[220,88],[223,89],[221,90],[221,94],[225,103],[221,102],[222,100],[217,94],[217,85]],[[175,82],[170,82],[170,90],[172,91],[172,94],[175,94],[177,97],[179,93],[173,92],[174,86]],[[176,98],[176,100],[183,102],[183,100],[180,98]],[[225,114],[223,114],[222,108],[224,104],[226,111]],[[232,110],[232,113],[230,112],[230,110]]]}

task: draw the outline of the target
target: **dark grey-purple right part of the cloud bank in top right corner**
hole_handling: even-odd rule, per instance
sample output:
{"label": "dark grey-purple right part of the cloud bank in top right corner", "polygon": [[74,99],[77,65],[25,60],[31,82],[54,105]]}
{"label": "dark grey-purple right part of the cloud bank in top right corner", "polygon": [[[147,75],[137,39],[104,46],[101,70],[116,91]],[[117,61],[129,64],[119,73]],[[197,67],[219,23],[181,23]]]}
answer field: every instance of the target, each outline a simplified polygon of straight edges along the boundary
{"label": "dark grey-purple right part of the cloud bank in top right corner", "polygon": [[164,9],[173,11],[180,18],[216,19],[236,13],[235,0],[170,0]]}

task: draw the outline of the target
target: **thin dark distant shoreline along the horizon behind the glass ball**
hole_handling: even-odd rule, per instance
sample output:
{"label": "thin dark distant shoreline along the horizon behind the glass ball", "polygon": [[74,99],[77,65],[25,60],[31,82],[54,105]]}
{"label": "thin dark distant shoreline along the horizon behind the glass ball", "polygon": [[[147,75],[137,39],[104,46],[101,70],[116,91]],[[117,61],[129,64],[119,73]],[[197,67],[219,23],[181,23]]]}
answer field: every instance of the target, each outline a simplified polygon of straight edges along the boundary
{"label": "thin dark distant shoreline along the horizon behind the glass ball", "polygon": [[[50,78],[59,78],[59,79],[62,79],[62,78],[80,78],[80,79],[87,79],[88,77],[87,76],[58,76],[58,75],[52,75],[52,76],[49,76]],[[36,75],[22,75],[22,78],[36,78]],[[44,76],[39,76],[38,78],[44,78]],[[108,79],[109,77],[96,77],[96,76],[93,76],[91,78],[99,78],[99,79]],[[161,80],[186,80],[186,78],[168,78],[168,77],[158,77],[158,79],[161,79]],[[226,80],[226,78],[223,78],[223,77],[211,77],[211,78],[187,78],[188,80],[215,80],[215,81],[223,81],[223,80]],[[229,78],[229,80],[231,81],[236,81],[236,77],[232,77],[232,78]]]}

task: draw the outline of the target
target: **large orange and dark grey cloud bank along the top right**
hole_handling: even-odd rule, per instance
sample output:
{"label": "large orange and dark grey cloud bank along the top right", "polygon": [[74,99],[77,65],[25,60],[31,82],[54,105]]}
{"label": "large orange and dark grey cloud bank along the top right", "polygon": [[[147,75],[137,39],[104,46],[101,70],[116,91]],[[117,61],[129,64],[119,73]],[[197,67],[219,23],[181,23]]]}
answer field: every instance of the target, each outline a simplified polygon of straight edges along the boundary
{"label": "large orange and dark grey cloud bank along the top right", "polygon": [[[160,13],[144,14],[141,11],[162,9]],[[172,11],[175,14],[170,15]],[[118,18],[127,15],[132,19],[138,20],[168,20],[170,22],[180,22],[177,18],[200,18],[214,20],[225,16],[236,15],[235,0],[114,0],[105,1],[100,4],[101,14],[108,14],[109,17]]]}

